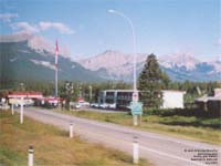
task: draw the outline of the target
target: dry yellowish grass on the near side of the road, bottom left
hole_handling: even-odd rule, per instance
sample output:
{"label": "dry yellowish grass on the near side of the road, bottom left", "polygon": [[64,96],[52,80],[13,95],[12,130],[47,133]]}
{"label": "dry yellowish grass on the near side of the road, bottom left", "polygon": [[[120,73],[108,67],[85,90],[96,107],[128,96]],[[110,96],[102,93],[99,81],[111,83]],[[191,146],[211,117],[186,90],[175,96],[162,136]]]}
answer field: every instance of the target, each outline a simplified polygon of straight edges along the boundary
{"label": "dry yellowish grass on the near side of the road, bottom left", "polygon": [[[119,151],[98,144],[70,139],[67,132],[51,125],[24,118],[19,124],[19,115],[0,111],[0,165],[27,165],[28,147],[34,147],[34,165],[76,166],[129,166],[131,157]],[[149,165],[141,160],[140,165]]]}

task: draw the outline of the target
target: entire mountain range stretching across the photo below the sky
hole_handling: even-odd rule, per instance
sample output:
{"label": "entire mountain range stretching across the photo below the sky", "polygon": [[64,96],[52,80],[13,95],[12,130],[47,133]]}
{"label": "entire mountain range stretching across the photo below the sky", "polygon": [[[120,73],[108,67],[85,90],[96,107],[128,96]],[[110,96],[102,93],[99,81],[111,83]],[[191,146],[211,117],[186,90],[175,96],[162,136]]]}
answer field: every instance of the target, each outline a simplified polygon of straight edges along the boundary
{"label": "entire mountain range stretching across the photo below the sky", "polygon": [[[137,74],[148,54],[137,54]],[[133,77],[133,54],[107,50],[73,61],[67,48],[60,46],[59,79],[75,81],[126,81]],[[173,81],[220,81],[221,59],[201,60],[190,54],[158,58],[160,68]],[[54,80],[54,46],[40,35],[0,35],[1,80]]]}

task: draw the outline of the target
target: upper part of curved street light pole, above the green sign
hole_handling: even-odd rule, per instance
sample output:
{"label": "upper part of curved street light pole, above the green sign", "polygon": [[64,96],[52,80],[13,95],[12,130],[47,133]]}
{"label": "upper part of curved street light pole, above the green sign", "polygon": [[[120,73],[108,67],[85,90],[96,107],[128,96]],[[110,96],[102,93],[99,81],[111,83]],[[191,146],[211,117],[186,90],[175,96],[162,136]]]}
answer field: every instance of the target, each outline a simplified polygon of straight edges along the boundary
{"label": "upper part of curved street light pole, above the green sign", "polygon": [[[109,9],[108,10],[108,12],[109,13],[115,13],[115,14],[118,14],[118,15],[120,15],[120,17],[123,17],[125,20],[127,20],[127,22],[129,23],[129,25],[130,25],[130,29],[131,29],[131,34],[133,34],[133,51],[134,51],[134,94],[133,94],[133,96],[134,95],[137,95],[137,73],[136,73],[136,64],[137,64],[137,43],[136,43],[136,35],[135,35],[135,28],[134,28],[134,24],[133,24],[133,22],[131,22],[131,19],[130,18],[128,18],[125,13],[123,13],[123,12],[119,12],[119,11],[117,11],[117,10],[113,10],[113,9]],[[134,101],[138,101],[138,96],[137,96],[137,98],[135,98],[135,97],[133,97],[134,100],[133,100],[133,102]]]}

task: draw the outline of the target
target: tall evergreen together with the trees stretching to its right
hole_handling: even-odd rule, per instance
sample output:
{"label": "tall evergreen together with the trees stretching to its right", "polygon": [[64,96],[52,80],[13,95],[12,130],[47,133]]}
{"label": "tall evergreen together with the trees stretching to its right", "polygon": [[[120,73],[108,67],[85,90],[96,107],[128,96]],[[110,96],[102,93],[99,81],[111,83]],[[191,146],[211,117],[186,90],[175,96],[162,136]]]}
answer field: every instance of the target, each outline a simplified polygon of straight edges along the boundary
{"label": "tall evergreen together with the trees stretching to its right", "polygon": [[159,108],[162,102],[161,90],[186,91],[185,103],[193,103],[196,97],[211,94],[215,87],[221,87],[221,82],[172,82],[159,68],[155,54],[147,56],[138,77],[138,90],[144,107]]}

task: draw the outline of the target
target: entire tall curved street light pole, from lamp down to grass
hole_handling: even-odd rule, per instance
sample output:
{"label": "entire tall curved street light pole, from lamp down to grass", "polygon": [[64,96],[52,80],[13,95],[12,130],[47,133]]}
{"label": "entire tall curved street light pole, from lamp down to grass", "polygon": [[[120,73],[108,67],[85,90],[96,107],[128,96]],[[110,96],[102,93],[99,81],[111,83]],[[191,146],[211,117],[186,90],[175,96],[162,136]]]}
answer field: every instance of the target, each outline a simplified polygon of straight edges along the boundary
{"label": "entire tall curved street light pole, from lamp down to grass", "polygon": [[[135,104],[135,106],[137,106],[138,100],[139,100],[139,94],[137,91],[137,73],[136,73],[136,65],[137,65],[137,43],[136,43],[136,35],[135,35],[135,28],[134,24],[131,22],[131,19],[129,17],[127,17],[125,13],[117,11],[117,10],[113,10],[109,9],[108,10],[109,13],[114,13],[114,14],[118,14],[120,17],[123,17],[128,23],[129,27],[131,29],[131,34],[133,34],[133,50],[134,50],[134,91],[133,91],[133,103]],[[133,108],[131,108],[133,112]],[[134,125],[137,125],[137,115],[133,115],[134,116]],[[140,116],[141,118],[141,116]]]}

